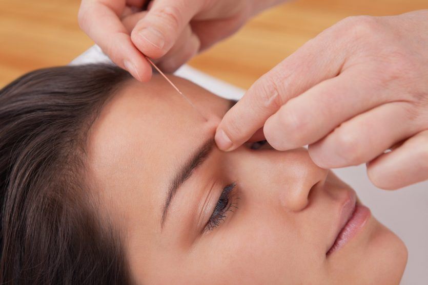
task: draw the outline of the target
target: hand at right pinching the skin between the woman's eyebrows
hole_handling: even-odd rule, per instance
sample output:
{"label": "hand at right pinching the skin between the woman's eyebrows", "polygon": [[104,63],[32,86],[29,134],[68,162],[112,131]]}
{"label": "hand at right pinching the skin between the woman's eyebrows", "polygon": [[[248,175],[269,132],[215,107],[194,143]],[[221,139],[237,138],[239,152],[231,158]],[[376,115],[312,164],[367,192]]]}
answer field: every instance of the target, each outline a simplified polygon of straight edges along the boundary
{"label": "hand at right pinching the skin between the woman's eyebrows", "polygon": [[340,21],[251,86],[217,145],[235,149],[264,125],[274,148],[309,144],[321,167],[368,162],[380,188],[428,179],[427,31],[428,10]]}

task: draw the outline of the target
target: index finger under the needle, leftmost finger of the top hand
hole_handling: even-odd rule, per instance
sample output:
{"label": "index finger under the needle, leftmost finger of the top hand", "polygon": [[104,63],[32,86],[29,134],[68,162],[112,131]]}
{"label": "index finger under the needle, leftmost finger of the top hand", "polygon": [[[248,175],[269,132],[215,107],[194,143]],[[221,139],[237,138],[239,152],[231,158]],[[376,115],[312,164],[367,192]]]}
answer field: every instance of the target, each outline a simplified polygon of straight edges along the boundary
{"label": "index finger under the needle, leftmost finger of the top hand", "polygon": [[[135,2],[134,0],[133,3]],[[144,1],[140,2],[141,5],[144,4]],[[137,80],[148,81],[152,68],[134,46],[119,19],[125,5],[125,0],[83,0],[79,8],[78,23],[114,63],[126,69]]]}

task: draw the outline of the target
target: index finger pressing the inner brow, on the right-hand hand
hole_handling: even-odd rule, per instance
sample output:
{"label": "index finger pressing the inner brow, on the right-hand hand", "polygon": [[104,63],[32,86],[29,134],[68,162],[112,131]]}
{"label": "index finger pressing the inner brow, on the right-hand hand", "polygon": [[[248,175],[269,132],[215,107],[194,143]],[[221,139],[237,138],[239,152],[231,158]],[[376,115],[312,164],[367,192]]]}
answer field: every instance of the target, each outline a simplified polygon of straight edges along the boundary
{"label": "index finger pressing the inner brow, on the right-hand hand", "polygon": [[345,54],[339,45],[330,45],[330,34],[326,30],[308,41],[250,87],[217,127],[220,149],[239,147],[288,100],[340,72]]}

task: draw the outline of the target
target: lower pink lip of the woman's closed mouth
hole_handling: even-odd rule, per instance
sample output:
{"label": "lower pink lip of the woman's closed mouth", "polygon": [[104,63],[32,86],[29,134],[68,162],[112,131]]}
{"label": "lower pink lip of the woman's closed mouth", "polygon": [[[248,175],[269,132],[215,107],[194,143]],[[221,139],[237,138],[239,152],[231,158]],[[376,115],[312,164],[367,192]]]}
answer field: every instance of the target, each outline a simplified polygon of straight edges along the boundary
{"label": "lower pink lip of the woman's closed mouth", "polygon": [[362,229],[362,227],[364,227],[365,223],[369,220],[370,215],[371,213],[369,208],[357,203],[350,220],[338,234],[333,246],[327,252],[327,255],[332,254],[347,244],[349,240],[351,240]]}

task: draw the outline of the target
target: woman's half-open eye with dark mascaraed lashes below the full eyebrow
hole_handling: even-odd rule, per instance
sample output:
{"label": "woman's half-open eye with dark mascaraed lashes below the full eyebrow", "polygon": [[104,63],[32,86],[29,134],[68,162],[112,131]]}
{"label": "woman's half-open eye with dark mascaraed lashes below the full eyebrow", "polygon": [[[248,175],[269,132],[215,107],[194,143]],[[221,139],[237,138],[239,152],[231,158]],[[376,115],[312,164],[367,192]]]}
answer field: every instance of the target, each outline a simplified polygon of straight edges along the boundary
{"label": "woman's half-open eye with dark mascaraed lashes below the full eyebrow", "polygon": [[[213,213],[211,214],[210,220],[207,223],[206,231],[212,231],[216,227],[218,227],[222,221],[225,220],[225,218],[228,216],[228,212],[234,212],[234,209],[238,208],[238,204],[235,202],[229,203],[229,200],[231,198],[232,190],[235,188],[236,183],[232,183],[225,188],[223,188],[223,191],[220,194],[220,198],[217,201],[217,205],[215,206],[215,209]],[[239,200],[239,198],[236,198],[236,200]]]}

